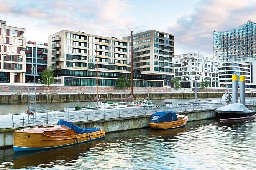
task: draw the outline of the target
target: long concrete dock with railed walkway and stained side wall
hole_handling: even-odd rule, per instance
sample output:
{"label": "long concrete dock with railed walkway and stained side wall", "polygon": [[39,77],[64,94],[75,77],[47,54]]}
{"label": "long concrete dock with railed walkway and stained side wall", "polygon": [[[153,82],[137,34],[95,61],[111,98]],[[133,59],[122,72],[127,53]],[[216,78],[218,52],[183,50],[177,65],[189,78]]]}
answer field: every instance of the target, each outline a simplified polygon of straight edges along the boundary
{"label": "long concrete dock with railed walkway and stained side wall", "polygon": [[[248,108],[254,110],[255,100],[246,100]],[[1,115],[0,147],[13,145],[13,132],[18,129],[42,124],[56,124],[59,120],[72,122],[82,128],[102,128],[107,133],[148,127],[151,116],[156,112],[174,111],[188,115],[188,121],[216,117],[215,110],[226,105],[224,102],[202,102],[196,105],[165,104],[138,107],[119,107],[74,111],[37,112],[29,119],[27,113]]]}

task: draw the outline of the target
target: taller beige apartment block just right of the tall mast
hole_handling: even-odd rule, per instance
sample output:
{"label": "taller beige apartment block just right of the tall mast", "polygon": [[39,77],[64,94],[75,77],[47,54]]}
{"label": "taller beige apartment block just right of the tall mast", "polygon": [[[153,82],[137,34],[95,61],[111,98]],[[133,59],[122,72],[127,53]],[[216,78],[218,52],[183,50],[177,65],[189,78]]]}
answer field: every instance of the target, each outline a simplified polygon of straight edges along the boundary
{"label": "taller beige apartment block just right of the tall mast", "polygon": [[[131,36],[123,37],[131,41]],[[135,76],[157,80],[160,87],[164,79],[174,76],[174,35],[149,30],[133,35],[133,61]]]}

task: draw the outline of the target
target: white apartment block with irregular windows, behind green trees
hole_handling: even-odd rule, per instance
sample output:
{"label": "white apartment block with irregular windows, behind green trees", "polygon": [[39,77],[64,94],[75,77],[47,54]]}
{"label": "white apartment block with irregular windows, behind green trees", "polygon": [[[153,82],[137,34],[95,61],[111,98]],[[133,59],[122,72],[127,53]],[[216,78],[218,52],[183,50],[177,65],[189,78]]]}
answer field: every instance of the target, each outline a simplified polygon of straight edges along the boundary
{"label": "white apartment block with irregular windows, behind green trees", "polygon": [[174,56],[174,77],[179,78],[181,86],[194,88],[197,75],[197,87],[203,79],[211,82],[211,87],[219,87],[220,62],[210,57],[204,57],[200,52],[190,52],[187,54]]}

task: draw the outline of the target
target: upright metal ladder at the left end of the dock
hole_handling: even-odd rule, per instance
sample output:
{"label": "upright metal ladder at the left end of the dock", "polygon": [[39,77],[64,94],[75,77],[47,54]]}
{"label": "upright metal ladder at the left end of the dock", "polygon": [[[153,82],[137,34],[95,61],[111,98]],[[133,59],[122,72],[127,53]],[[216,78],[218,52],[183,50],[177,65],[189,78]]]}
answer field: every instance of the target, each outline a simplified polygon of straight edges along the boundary
{"label": "upright metal ladder at the left end of the dock", "polygon": [[28,87],[28,123],[35,122],[36,118],[36,87]]}

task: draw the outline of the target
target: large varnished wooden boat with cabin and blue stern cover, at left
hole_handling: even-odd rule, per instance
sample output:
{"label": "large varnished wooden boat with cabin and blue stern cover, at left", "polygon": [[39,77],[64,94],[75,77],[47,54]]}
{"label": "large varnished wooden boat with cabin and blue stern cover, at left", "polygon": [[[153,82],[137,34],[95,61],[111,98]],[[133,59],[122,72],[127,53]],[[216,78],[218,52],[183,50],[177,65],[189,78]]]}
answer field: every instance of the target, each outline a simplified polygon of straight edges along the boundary
{"label": "large varnished wooden boat with cabin and blue stern cover, at left", "polygon": [[40,125],[14,132],[13,149],[18,151],[41,150],[74,145],[105,137],[105,130],[84,129],[60,120],[58,125]]}

